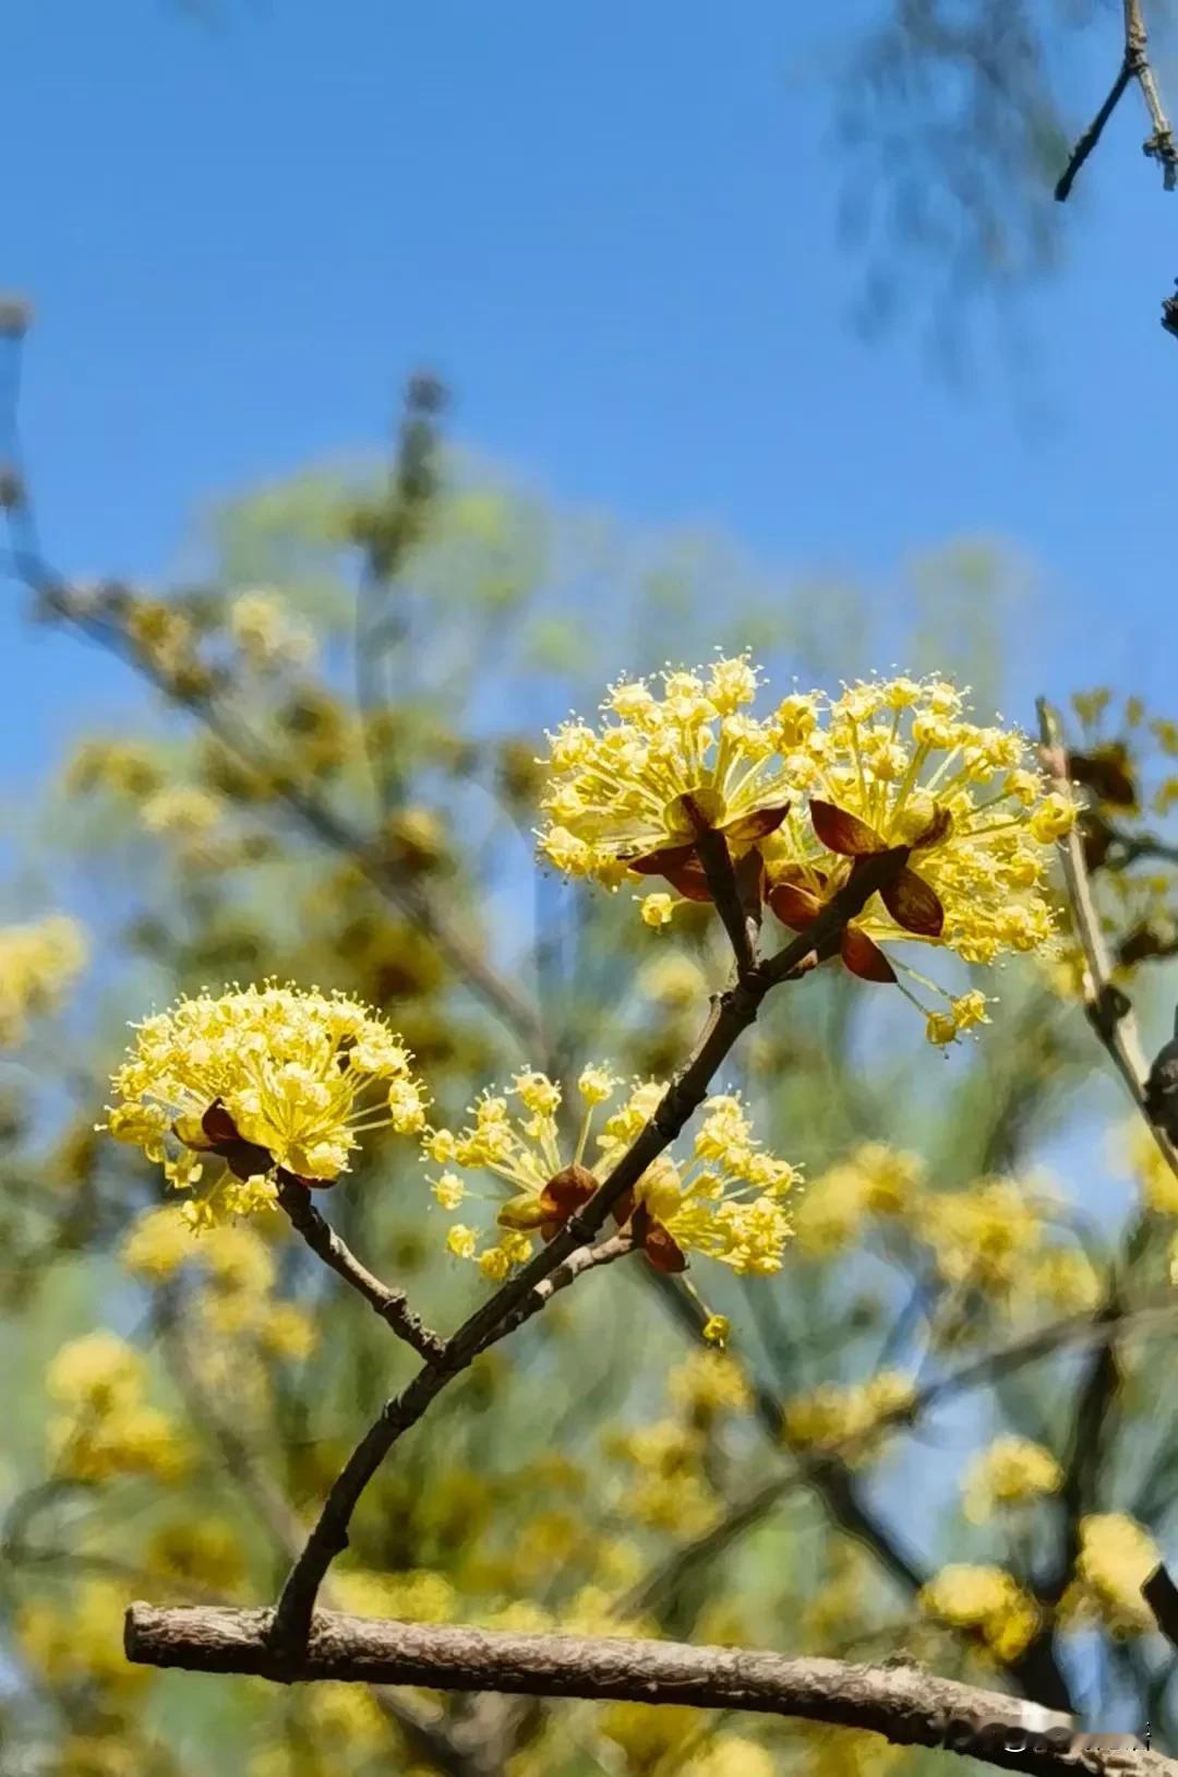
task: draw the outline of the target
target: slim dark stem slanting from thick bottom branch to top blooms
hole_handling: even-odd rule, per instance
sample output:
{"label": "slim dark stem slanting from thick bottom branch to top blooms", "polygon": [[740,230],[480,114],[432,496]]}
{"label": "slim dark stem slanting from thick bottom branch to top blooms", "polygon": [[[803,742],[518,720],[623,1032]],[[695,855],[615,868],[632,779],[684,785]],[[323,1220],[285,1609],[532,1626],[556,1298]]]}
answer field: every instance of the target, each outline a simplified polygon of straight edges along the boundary
{"label": "slim dark stem slanting from thick bottom branch to top blooms", "polygon": [[426,1363],[403,1393],[386,1400],[380,1416],[332,1482],[318,1523],[290,1573],[274,1622],[279,1644],[295,1646],[306,1638],[320,1582],[336,1555],[348,1546],[352,1512],[398,1438],[418,1423],[448,1383],[466,1370],[483,1349],[489,1335],[494,1335],[528,1301],[537,1285],[579,1246],[593,1244],[611,1208],[634,1189],[643,1173],[700,1107],[716,1070],[737,1038],[753,1024],[771,988],[807,974],[823,956],[830,954],[848,920],[855,919],[872,894],[904,867],[908,855],[908,848],[899,846],[869,858],[864,869],[856,871],[851,881],[828,901],[801,936],[787,944],[769,961],[759,963],[736,988],[716,999],[691,1057],[666,1088],[650,1121],[640,1130],[585,1208],[570,1215],[556,1239],[528,1260],[490,1301],[458,1327],[446,1343],[442,1358]]}

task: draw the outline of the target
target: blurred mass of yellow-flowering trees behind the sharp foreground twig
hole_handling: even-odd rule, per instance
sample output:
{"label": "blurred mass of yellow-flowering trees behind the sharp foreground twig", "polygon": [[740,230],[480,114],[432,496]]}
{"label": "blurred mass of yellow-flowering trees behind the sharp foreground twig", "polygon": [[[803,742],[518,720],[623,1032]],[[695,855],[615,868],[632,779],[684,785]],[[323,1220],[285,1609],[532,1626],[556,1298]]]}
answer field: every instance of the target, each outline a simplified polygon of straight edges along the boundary
{"label": "blurred mass of yellow-flowering trees behind the sharp foreground twig", "polygon": [[[723,926],[704,899],[665,929],[643,922],[634,876],[604,896],[537,871],[542,730],[569,705],[592,713],[618,675],[716,645],[737,657],[755,643],[778,697],[794,675],[837,695],[885,652],[999,693],[999,659],[968,640],[970,659],[947,659],[963,634],[954,597],[986,599],[997,553],[929,558],[872,634],[851,592],[826,590],[816,615],[810,588],[759,579],[718,546],[634,540],[448,460],[439,400],[414,386],[391,476],[251,492],[203,538],[203,570],[167,592],[55,578],[27,496],[9,490],[41,618],[121,656],[144,700],[39,785],[39,839],[0,931],[4,1770],[920,1763],[874,1734],[718,1711],[284,1690],[123,1656],[133,1598],[270,1601],[361,1430],[416,1367],[283,1214],[242,1199],[194,1231],[179,1212],[199,1199],[183,1189],[192,1153],[162,1144],[167,1182],[96,1128],[126,1022],[233,983],[339,990],[400,1032],[439,1128],[462,1125],[489,1082],[515,1080],[540,1116],[549,1086],[528,1070],[569,1096],[586,1066],[668,1079],[728,979]],[[919,627],[933,606],[936,661]],[[1093,1114],[1087,1096],[1098,1036],[1125,1038],[1128,999],[1148,1011],[1174,952],[1178,743],[1164,714],[1130,702],[1112,721],[1112,707],[1087,693],[1048,734],[1086,803],[1109,981],[1093,981],[1091,933],[1071,929],[1061,887],[1063,947],[1013,961],[997,1006],[990,970],[967,968],[952,1016],[933,1015],[938,1040],[947,1016],[949,1036],[984,1020],[947,1059],[901,993],[837,961],[766,1002],[716,1088],[737,1089],[766,1150],[803,1169],[784,1269],[698,1258],[684,1279],[650,1246],[561,1292],[378,1470],[327,1603],[419,1624],[903,1653],[1098,1725],[1118,1711],[1174,1733],[1139,1583],[1171,1525],[1174,1439],[1144,1338],[1167,1326],[1178,1182],[1128,1100]],[[880,784],[901,769],[887,745]],[[1068,1169],[1109,1116],[1110,1166],[1139,1203],[1123,1191],[1100,1219],[1080,1189],[1091,1167],[1079,1183]],[[451,1327],[512,1251],[496,1240],[469,1262],[494,1210],[474,1194],[455,1226],[457,1189],[437,1175],[380,1127],[314,1196],[350,1251]],[[707,1317],[728,1324],[727,1349],[700,1340]]]}

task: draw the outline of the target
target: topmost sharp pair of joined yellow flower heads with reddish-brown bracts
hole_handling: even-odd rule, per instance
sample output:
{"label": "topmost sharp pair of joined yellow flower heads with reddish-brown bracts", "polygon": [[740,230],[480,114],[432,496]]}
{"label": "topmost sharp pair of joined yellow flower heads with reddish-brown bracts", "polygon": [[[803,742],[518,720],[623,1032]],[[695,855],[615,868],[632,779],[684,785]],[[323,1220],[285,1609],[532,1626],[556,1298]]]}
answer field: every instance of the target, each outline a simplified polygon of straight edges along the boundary
{"label": "topmost sharp pair of joined yellow flower heads with reddish-brown bracts", "polygon": [[[1075,807],[1048,791],[1025,736],[970,721],[965,695],[936,677],[794,693],[755,718],[757,677],[739,656],[665,672],[661,697],[625,681],[601,729],[574,718],[549,734],[540,853],[611,888],[654,874],[707,901],[698,842],[723,833],[734,860],[755,855],[741,869],[746,892],[803,931],[860,858],[908,846],[910,867],[844,935],[853,974],[895,981],[885,951],[897,942],[967,963],[1054,949],[1045,876]],[[643,919],[663,926],[673,906],[659,890]],[[988,1022],[984,993],[924,984],[947,1002],[924,1008],[929,1041]]]}

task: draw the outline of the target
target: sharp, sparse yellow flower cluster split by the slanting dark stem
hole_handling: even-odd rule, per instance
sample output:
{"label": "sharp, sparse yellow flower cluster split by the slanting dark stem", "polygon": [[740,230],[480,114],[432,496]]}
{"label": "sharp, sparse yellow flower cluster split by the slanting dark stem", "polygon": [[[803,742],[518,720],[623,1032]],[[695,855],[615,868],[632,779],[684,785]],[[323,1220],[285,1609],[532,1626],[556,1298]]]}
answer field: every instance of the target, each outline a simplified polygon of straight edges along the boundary
{"label": "sharp, sparse yellow flower cluster split by the slanting dark stem", "polygon": [[[611,1105],[618,1086],[608,1068],[585,1068],[577,1080],[579,1132],[572,1153],[561,1153],[560,1144],[560,1086],[537,1072],[519,1073],[503,1096],[489,1091],[478,1098],[464,1130],[430,1128],[423,1151],[426,1160],[446,1167],[432,1180],[442,1208],[453,1212],[474,1198],[464,1173],[489,1175],[499,1198],[497,1239],[480,1251],[476,1230],[457,1223],[450,1251],[476,1258],[483,1276],[496,1283],[529,1256],[537,1233],[551,1235],[586,1203],[666,1091],[661,1080],[634,1084],[593,1134],[597,1112]],[[633,1198],[618,1205],[617,1219],[633,1223],[636,1244],[665,1271],[682,1271],[688,1253],[743,1274],[780,1271],[791,1235],[784,1199],[798,1173],[753,1139],[739,1096],[709,1098],[704,1112],[691,1153],[681,1159],[663,1153]]]}

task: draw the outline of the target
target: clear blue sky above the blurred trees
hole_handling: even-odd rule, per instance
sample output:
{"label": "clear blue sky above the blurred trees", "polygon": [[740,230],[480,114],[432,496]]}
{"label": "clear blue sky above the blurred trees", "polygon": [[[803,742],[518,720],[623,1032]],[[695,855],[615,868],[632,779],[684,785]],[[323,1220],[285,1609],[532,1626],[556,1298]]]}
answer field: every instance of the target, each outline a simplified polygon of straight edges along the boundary
{"label": "clear blue sky above the blurred trees", "polygon": [[[848,327],[844,165],[794,9],[210,11],[5,7],[0,281],[37,306],[23,423],[66,570],[162,572],[215,494],[377,444],[428,361],[462,442],[785,570],[883,597],[913,549],[1006,538],[1043,572],[1020,689],[1173,695],[1178,195],[1141,158],[1134,94],[1027,309],[1018,394],[991,350],[959,394],[919,334]],[[1077,107],[1114,53],[1091,39]],[[115,693],[12,595],[0,645],[12,787],[80,698]]]}

